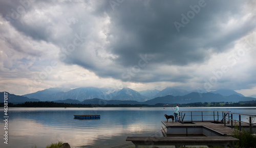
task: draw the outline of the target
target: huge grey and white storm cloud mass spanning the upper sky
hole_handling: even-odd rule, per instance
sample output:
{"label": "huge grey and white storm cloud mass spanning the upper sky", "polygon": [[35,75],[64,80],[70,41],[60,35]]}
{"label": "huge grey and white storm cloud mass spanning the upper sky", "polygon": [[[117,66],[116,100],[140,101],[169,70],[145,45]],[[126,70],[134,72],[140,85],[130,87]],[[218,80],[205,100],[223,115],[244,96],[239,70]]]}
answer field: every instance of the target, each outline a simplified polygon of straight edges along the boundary
{"label": "huge grey and white storm cloud mass spanning the upper sky", "polygon": [[[1,1],[0,13],[29,42],[53,45],[59,50],[58,60],[67,65],[125,82],[185,84],[193,79],[204,83],[212,74],[200,66],[236,48],[238,40],[255,31],[253,6],[253,1],[123,1],[113,9],[109,1],[35,1],[19,13],[24,4]],[[175,22],[182,26],[177,29]],[[5,40],[32,59],[47,55],[20,38]],[[212,71],[211,65],[208,68]],[[254,83],[230,82],[230,75],[218,82],[233,88]]]}

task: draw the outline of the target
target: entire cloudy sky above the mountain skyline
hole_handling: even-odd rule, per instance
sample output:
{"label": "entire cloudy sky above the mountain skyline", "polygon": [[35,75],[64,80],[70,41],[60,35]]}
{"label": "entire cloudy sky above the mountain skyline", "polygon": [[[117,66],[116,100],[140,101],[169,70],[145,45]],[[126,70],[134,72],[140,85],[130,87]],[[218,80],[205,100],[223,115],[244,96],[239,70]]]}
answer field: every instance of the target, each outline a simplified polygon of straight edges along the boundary
{"label": "entire cloudy sky above the mountain skyline", "polygon": [[256,94],[255,1],[0,1],[0,91]]}

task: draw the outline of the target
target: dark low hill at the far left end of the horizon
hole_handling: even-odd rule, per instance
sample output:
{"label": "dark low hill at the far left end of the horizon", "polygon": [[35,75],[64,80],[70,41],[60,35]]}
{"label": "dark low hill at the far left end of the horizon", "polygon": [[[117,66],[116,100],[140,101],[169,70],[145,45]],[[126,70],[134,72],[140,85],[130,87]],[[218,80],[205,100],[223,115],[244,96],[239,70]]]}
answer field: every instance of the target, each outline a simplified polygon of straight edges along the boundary
{"label": "dark low hill at the far left end of the horizon", "polygon": [[[14,95],[14,94],[8,94],[8,103],[14,103],[14,104],[18,104],[18,103],[24,103],[24,102],[37,102],[40,101],[39,99],[29,99],[27,97],[23,97],[23,96],[18,96],[18,95]],[[2,102],[4,102],[4,92],[0,92],[0,99],[2,100]]]}

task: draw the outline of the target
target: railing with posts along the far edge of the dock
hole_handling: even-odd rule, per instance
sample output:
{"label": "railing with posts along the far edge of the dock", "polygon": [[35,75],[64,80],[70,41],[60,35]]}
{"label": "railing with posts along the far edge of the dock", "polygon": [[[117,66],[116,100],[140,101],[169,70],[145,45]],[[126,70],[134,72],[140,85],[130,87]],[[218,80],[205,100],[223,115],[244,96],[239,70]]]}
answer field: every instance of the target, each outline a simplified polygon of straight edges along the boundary
{"label": "railing with posts along the far edge of the dock", "polygon": [[[235,117],[234,115],[238,115],[238,117]],[[233,122],[238,122],[240,131],[241,131],[242,123],[249,125],[250,131],[252,131],[252,126],[256,125],[256,123],[254,123],[254,120],[256,119],[256,115],[234,113],[231,111],[221,111],[221,110],[179,111],[178,120],[180,123],[184,124],[185,116],[189,118],[189,120],[186,120],[185,122],[220,122],[220,123],[224,123],[224,126],[231,125],[231,128],[234,127]],[[245,120],[244,121],[241,120],[245,118],[247,119],[248,122],[245,122]]]}

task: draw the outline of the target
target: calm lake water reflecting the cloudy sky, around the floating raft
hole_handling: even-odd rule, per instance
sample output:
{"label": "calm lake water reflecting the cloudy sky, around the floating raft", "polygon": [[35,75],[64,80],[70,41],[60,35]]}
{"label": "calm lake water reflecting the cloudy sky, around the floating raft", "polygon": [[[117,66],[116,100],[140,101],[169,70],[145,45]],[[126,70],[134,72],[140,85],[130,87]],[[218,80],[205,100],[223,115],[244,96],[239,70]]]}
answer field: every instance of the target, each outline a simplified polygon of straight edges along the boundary
{"label": "calm lake water reflecting the cloudy sky, around the floating raft", "polygon": [[[180,111],[187,110],[256,114],[256,107],[180,107]],[[125,141],[127,136],[161,136],[161,121],[166,120],[164,114],[173,114],[170,107],[9,108],[8,144],[5,144],[4,109],[0,111],[3,114],[0,147],[46,147],[57,141],[68,142],[71,147],[114,147],[131,143]],[[74,114],[100,114],[101,118],[76,120]],[[246,116],[242,120],[248,122]]]}

